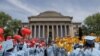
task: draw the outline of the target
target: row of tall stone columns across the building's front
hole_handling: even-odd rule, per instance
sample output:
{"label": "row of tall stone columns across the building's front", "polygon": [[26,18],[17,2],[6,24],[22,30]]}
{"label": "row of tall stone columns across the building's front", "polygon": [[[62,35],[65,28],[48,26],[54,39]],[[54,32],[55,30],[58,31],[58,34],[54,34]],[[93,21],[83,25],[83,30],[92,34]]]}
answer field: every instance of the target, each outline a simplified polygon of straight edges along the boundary
{"label": "row of tall stone columns across the building's front", "polygon": [[[30,25],[30,29],[33,32],[34,36],[33,36],[33,34],[31,34],[30,38],[32,38],[32,37],[34,37],[34,38],[36,38],[36,37],[38,37],[38,38],[40,38],[40,37],[45,38],[45,33],[46,33],[46,30],[47,30],[47,41],[48,41],[50,25],[46,25],[47,29],[45,28],[45,25],[42,25],[42,29],[41,29],[41,25],[33,25],[33,26],[34,26],[34,29],[33,29],[34,31],[32,31],[32,25]],[[38,28],[37,28],[37,26],[38,26]],[[64,25],[64,27],[63,27],[63,25],[59,25],[60,28],[58,28],[58,25],[51,25],[51,26],[52,26],[52,40],[55,39],[55,35],[56,35],[56,37],[64,37],[64,36],[68,35],[67,33],[69,33],[70,36],[74,36],[73,35],[73,26],[72,25],[68,25],[69,26],[69,30],[68,30],[68,27],[67,27],[66,24]],[[54,27],[54,26],[56,26],[56,27]],[[42,32],[41,32],[41,30],[42,30]],[[56,31],[56,34],[54,33],[55,31]],[[65,31],[65,32],[63,32],[63,31]],[[59,36],[59,32],[61,32],[60,36]],[[36,35],[36,34],[38,34],[38,35]]]}

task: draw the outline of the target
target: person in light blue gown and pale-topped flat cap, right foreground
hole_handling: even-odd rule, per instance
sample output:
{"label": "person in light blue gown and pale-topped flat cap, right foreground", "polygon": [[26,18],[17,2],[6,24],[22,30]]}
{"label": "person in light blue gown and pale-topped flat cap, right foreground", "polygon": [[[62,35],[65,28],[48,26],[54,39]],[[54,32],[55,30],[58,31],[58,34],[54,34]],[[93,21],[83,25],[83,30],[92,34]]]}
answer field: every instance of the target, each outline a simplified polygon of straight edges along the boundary
{"label": "person in light blue gown and pale-topped flat cap, right foreground", "polygon": [[100,56],[100,51],[95,48],[95,39],[96,37],[93,36],[87,36],[86,43],[85,43],[85,50],[84,55],[85,56]]}

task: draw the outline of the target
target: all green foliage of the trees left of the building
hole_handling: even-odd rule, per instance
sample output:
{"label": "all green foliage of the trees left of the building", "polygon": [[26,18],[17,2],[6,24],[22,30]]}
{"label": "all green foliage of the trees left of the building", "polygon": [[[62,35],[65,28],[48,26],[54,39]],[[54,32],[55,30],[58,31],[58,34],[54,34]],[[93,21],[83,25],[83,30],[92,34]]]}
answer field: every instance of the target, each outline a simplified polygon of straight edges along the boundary
{"label": "all green foliage of the trees left of the building", "polygon": [[13,36],[16,34],[19,27],[21,27],[21,21],[12,19],[12,17],[5,12],[0,12],[0,27],[5,30],[4,36]]}

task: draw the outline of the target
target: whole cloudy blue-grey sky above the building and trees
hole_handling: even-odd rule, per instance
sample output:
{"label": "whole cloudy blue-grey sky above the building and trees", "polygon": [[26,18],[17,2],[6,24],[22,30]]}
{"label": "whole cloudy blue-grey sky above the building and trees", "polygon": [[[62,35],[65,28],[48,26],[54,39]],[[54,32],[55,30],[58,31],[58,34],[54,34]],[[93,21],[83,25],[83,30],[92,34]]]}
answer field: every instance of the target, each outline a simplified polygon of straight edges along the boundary
{"label": "whole cloudy blue-grey sky above the building and trees", "polygon": [[100,12],[100,0],[0,0],[0,11],[23,22],[28,22],[28,16],[48,10],[73,16],[74,22],[82,22],[88,15]]}

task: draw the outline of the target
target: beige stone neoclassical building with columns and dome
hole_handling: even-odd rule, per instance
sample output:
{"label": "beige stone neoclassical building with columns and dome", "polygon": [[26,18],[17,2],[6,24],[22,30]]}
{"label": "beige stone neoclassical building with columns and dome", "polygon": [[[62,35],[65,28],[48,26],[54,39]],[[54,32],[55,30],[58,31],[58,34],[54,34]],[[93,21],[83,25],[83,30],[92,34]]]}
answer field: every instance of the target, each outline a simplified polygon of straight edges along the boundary
{"label": "beige stone neoclassical building with columns and dome", "polygon": [[51,38],[74,36],[78,33],[81,26],[79,22],[72,22],[73,17],[64,16],[56,11],[41,12],[37,16],[28,17],[29,23],[23,23],[23,26],[29,25],[32,30],[31,37]]}

